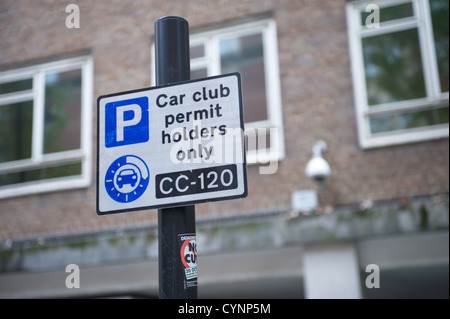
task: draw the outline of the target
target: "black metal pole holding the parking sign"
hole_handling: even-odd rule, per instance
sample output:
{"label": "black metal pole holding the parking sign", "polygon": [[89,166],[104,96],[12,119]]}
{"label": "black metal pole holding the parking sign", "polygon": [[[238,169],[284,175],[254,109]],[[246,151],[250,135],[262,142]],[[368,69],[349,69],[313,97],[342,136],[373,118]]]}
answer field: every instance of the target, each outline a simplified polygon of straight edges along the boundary
{"label": "black metal pole holding the parking sign", "polygon": [[[190,79],[189,25],[180,17],[155,22],[156,84]],[[197,277],[186,278],[181,249],[195,236],[195,206],[158,210],[159,298],[197,298]],[[196,257],[195,257],[196,258]]]}

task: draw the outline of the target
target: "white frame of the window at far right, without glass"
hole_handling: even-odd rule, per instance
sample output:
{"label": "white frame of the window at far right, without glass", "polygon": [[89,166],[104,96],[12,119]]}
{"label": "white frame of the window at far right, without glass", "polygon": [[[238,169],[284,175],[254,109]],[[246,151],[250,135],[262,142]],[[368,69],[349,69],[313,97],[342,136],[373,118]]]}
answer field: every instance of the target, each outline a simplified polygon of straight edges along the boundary
{"label": "white frame of the window at far right, without glass", "polygon": [[[379,28],[362,26],[361,12],[364,12],[368,5],[376,4],[379,8],[383,8],[403,3],[412,3],[413,17],[382,22]],[[449,93],[441,93],[440,89],[428,0],[370,0],[350,2],[347,4],[347,24],[360,146],[362,148],[374,148],[448,137],[448,123],[376,134],[370,132],[370,116],[395,113],[398,111],[430,109],[431,105],[448,105]],[[407,29],[417,29],[419,33],[422,70],[427,96],[421,99],[387,103],[369,108],[362,39]]]}

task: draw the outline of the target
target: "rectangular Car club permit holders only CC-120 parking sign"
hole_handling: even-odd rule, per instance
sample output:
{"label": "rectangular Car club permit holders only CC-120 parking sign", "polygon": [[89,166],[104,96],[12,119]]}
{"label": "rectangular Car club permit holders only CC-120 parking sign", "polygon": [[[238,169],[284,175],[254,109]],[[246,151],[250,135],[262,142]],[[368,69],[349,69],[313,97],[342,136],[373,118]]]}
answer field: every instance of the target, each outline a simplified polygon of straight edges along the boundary
{"label": "rectangular Car club permit holders only CC-120 parking sign", "polygon": [[100,96],[97,213],[247,196],[239,73]]}

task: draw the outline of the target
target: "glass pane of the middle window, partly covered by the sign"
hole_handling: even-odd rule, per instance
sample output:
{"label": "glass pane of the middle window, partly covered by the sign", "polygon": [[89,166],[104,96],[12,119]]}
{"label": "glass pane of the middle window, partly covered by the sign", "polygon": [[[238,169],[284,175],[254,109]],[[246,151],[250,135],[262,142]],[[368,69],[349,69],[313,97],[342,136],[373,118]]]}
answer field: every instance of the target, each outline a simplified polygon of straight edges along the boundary
{"label": "glass pane of the middle window, partly covered by the sign", "polygon": [[244,121],[267,120],[262,34],[222,39],[220,64],[222,73],[242,75]]}

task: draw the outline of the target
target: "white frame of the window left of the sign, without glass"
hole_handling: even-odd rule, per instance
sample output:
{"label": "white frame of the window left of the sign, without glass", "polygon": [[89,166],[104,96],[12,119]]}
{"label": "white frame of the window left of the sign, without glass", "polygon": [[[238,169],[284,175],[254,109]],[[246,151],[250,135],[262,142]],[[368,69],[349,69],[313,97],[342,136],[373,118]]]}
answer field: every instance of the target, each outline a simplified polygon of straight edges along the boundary
{"label": "white frame of the window left of the sign, without glass", "polygon": [[[44,154],[45,74],[81,70],[81,136],[80,148]],[[0,107],[5,104],[33,101],[31,158],[0,163],[0,174],[45,168],[81,161],[81,174],[43,179],[0,187],[0,198],[88,187],[92,171],[92,101],[93,60],[81,56],[21,69],[0,72],[0,83],[33,79],[30,90],[0,95]]]}

